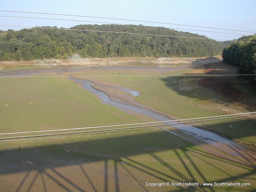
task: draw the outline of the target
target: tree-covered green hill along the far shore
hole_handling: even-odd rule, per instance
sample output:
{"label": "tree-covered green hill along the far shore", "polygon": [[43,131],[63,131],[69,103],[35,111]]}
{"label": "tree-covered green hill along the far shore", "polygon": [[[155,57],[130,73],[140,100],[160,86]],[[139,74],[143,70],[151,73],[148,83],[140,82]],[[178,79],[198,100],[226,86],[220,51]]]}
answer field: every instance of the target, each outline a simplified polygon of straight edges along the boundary
{"label": "tree-covered green hill along the far shore", "polygon": [[206,38],[165,27],[112,24],[54,28],[0,31],[0,60],[67,59],[74,53],[82,57],[201,57],[221,54],[225,47],[214,40],[82,31]]}

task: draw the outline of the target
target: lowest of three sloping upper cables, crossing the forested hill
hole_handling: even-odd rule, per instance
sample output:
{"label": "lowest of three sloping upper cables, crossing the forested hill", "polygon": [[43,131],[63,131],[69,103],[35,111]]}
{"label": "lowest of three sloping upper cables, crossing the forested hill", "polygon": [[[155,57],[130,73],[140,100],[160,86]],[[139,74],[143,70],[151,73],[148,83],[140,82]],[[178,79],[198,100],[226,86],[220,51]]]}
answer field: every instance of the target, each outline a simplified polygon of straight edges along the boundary
{"label": "lowest of three sloping upper cables, crossing the forested hill", "polygon": [[174,35],[157,35],[157,34],[144,34],[144,33],[127,33],[127,32],[117,32],[117,31],[98,31],[98,30],[84,30],[84,29],[67,29],[67,28],[54,28],[54,27],[28,27],[28,26],[12,26],[12,25],[0,25],[2,27],[24,27],[24,28],[36,28],[36,29],[59,29],[59,30],[73,30],[73,31],[92,31],[101,33],[117,33],[117,34],[132,34],[132,35],[148,35],[148,36],[159,36],[159,37],[179,37],[188,39],[204,39],[204,40],[215,40],[215,41],[233,41],[233,42],[245,42],[245,43],[256,43],[248,41],[235,41],[235,40],[225,40],[225,39],[210,39],[210,38],[199,38],[199,37],[183,37]]}

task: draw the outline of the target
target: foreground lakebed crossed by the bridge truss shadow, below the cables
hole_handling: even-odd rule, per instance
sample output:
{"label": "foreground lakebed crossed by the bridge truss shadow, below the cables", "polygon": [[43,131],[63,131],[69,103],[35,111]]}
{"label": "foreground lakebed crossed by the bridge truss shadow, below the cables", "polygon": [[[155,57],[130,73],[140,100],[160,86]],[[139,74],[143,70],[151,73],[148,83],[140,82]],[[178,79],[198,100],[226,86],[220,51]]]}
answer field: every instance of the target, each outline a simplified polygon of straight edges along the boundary
{"label": "foreground lakebed crossed by the bridge truss shadow, below the cables", "polygon": [[[13,142],[33,140],[1,145]],[[195,144],[164,130],[68,137],[59,144],[2,150],[0,156],[1,191],[256,190],[254,152],[238,144]],[[167,182],[182,185],[167,186]],[[251,186],[184,186],[183,182],[249,182]],[[161,183],[165,185],[159,187]]]}

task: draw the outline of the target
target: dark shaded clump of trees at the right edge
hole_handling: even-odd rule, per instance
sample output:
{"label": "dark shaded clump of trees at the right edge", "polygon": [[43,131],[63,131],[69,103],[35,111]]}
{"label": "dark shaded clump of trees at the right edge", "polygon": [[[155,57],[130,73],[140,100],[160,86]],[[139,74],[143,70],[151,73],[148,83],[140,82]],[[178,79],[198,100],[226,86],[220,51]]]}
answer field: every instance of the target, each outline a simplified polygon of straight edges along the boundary
{"label": "dark shaded clump of trees at the right edge", "polygon": [[[238,74],[256,75],[256,35],[241,37],[223,50],[223,61],[238,67]],[[245,76],[256,84],[256,76]]]}

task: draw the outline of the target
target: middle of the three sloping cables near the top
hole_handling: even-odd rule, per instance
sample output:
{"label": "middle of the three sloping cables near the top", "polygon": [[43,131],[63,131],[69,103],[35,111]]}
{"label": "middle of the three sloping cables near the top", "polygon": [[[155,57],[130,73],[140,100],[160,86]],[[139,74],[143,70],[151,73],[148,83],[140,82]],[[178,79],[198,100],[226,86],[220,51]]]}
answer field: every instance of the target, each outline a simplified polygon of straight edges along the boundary
{"label": "middle of the three sloping cables near the top", "polygon": [[[124,24],[124,23],[109,23],[109,22],[97,22],[97,21],[85,21],[85,20],[38,18],[38,17],[22,17],[22,16],[6,16],[6,15],[0,15],[0,17],[27,18],[27,19],[48,19],[48,20],[64,20],[64,21],[90,22],[90,23],[105,23],[105,24],[116,24],[116,25],[133,25],[133,24]],[[141,25],[134,25],[134,26],[139,26],[139,27],[153,27],[153,26],[141,26]],[[157,28],[163,28],[163,27],[157,27]],[[168,27],[164,27],[164,28],[165,28],[165,29],[180,29],[180,28],[168,28]],[[245,35],[245,36],[248,35],[248,34],[225,33],[225,32],[217,32],[217,31],[204,31],[204,30],[193,30],[193,29],[180,29],[180,30],[201,31],[201,32],[210,32],[210,33],[222,33],[222,34],[231,34],[231,35]]]}

